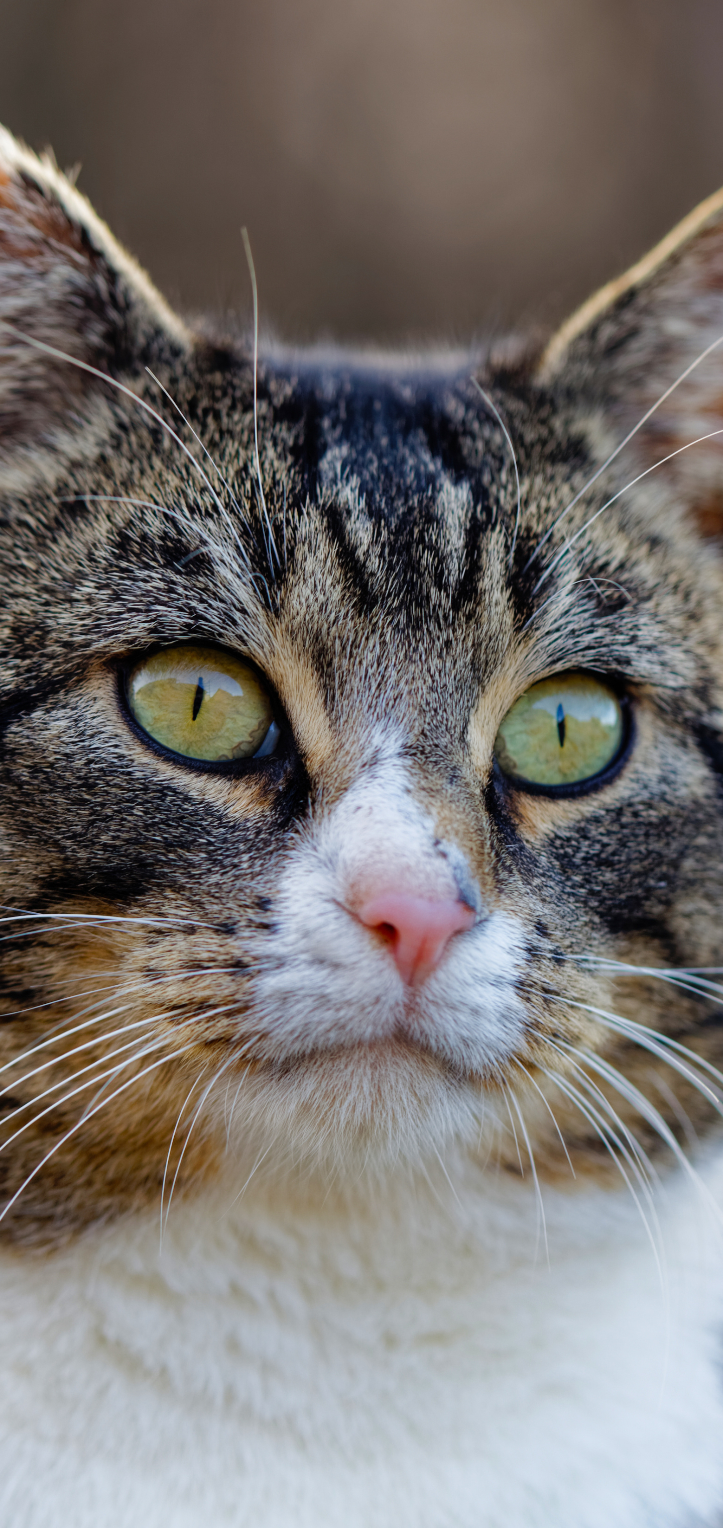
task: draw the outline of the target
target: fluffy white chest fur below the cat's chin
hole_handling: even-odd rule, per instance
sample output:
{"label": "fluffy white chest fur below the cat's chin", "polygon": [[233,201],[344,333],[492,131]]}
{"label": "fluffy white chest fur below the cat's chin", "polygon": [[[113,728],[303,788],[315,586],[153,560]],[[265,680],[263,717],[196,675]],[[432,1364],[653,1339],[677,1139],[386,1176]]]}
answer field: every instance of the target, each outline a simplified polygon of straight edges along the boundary
{"label": "fluffy white chest fur below the cat's chin", "polygon": [[[714,1192],[723,1169],[709,1174]],[[459,1169],[0,1261],[6,1528],[682,1528],[723,1500],[720,1233]]]}

